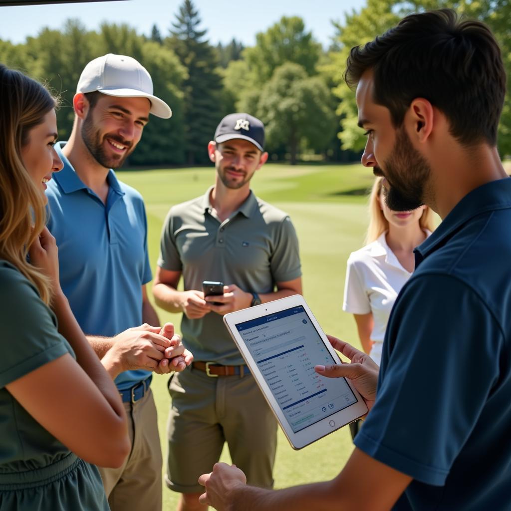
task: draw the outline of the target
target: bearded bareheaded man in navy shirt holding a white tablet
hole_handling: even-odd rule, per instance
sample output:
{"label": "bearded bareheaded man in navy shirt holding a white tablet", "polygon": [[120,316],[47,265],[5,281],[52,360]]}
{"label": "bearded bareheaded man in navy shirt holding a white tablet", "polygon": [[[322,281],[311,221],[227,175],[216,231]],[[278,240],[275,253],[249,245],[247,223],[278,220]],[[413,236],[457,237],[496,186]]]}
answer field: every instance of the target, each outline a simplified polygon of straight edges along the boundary
{"label": "bearded bareheaded man in navy shirt holding a white tablet", "polygon": [[443,222],[415,249],[392,310],[376,401],[367,355],[334,339],[352,364],[316,366],[351,378],[370,409],[341,473],[271,492],[217,464],[200,478],[200,501],[244,511],[510,509],[511,180],[496,148],[498,44],[453,11],[413,14],[352,49],[346,79],[368,137],[362,162],[385,176],[389,207],[425,203]]}

